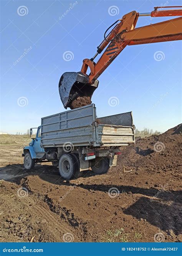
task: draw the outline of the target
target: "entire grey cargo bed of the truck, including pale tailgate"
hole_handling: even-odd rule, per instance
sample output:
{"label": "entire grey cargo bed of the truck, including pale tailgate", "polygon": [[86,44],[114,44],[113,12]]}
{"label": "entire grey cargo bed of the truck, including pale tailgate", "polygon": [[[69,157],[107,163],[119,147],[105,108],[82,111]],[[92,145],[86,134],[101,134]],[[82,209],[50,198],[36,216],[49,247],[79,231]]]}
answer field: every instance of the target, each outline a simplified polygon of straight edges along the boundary
{"label": "entire grey cargo bed of the truck, including pale tailgate", "polygon": [[132,112],[96,118],[94,104],[41,118],[41,146],[109,147],[135,143]]}

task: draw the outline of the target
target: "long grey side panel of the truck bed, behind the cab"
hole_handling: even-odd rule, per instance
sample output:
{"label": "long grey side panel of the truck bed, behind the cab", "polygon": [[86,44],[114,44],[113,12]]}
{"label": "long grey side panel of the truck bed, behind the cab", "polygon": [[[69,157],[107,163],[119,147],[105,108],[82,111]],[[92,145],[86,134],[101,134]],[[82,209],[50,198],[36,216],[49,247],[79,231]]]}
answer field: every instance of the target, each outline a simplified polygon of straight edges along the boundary
{"label": "long grey side panel of the truck bed, behind the cab", "polygon": [[92,145],[95,140],[95,106],[88,105],[41,119],[41,146]]}

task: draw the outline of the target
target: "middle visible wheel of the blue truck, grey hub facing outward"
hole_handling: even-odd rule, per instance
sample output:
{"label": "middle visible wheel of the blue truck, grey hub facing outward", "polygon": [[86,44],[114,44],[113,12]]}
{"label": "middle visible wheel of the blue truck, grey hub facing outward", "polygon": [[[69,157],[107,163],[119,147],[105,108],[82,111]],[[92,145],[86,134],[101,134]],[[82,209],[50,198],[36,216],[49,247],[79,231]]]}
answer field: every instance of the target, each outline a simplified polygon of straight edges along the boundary
{"label": "middle visible wheel of the blue truck, grey hub facing outward", "polygon": [[75,158],[71,154],[63,154],[59,161],[59,171],[62,178],[70,180],[76,173]]}

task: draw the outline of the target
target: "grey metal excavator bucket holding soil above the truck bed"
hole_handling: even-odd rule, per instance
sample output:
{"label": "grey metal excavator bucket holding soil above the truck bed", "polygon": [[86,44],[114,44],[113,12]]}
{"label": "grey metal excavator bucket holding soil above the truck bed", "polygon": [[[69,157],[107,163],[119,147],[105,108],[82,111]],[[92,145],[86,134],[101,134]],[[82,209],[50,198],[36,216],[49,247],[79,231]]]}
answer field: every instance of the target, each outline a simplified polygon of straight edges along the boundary
{"label": "grey metal excavator bucket holding soil above the truck bed", "polygon": [[88,76],[81,72],[65,72],[59,82],[59,93],[64,108],[79,108],[91,104],[91,97],[98,87],[88,83]]}

